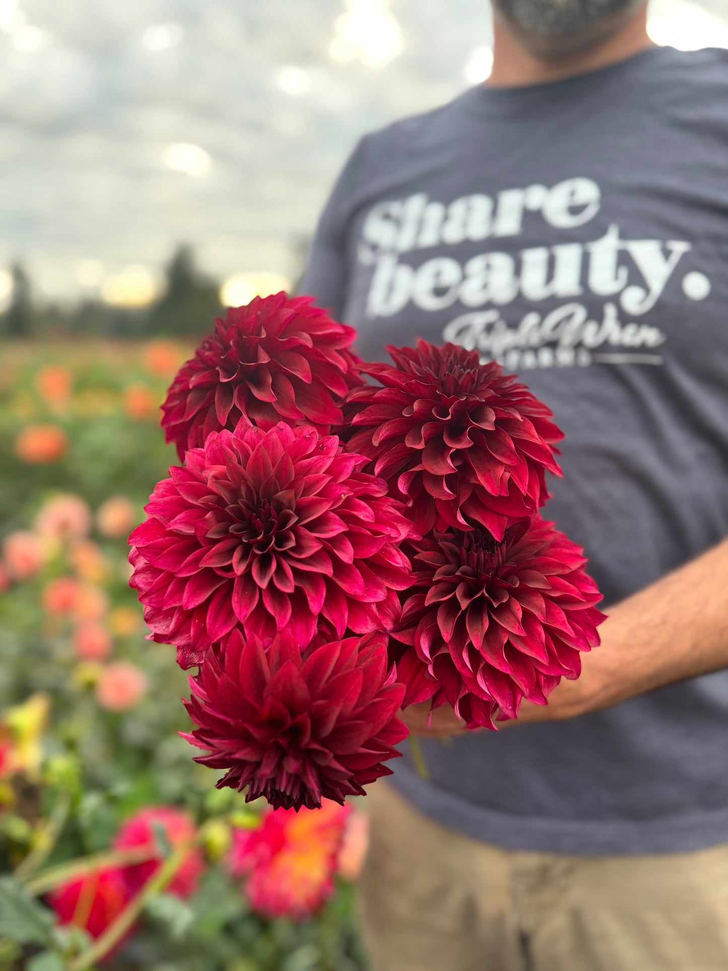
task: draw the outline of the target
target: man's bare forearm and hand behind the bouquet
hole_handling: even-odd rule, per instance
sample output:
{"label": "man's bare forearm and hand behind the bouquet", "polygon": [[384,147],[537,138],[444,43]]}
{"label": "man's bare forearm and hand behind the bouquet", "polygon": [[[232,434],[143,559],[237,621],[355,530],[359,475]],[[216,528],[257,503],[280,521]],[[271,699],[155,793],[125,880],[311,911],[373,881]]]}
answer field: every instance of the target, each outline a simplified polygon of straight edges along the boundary
{"label": "man's bare forearm and hand behind the bouquet", "polygon": [[[607,613],[600,647],[581,655],[579,679],[562,679],[547,705],[524,701],[517,722],[572,719],[728,667],[728,540]],[[428,706],[413,705],[402,716],[416,734],[465,730],[448,706],[428,728]]]}

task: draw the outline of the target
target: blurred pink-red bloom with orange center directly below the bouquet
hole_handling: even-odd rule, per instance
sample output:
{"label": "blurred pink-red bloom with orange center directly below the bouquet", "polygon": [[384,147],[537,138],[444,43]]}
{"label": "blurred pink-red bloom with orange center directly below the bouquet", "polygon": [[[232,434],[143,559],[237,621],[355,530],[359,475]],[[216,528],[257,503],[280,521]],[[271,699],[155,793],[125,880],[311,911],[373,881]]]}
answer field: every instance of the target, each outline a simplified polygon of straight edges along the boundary
{"label": "blurred pink-red bloom with orange center directly below the bouquet", "polygon": [[314,915],[334,892],[349,813],[349,806],[324,799],[320,809],[277,809],[257,829],[235,829],[228,863],[233,876],[244,878],[252,909],[294,921]]}

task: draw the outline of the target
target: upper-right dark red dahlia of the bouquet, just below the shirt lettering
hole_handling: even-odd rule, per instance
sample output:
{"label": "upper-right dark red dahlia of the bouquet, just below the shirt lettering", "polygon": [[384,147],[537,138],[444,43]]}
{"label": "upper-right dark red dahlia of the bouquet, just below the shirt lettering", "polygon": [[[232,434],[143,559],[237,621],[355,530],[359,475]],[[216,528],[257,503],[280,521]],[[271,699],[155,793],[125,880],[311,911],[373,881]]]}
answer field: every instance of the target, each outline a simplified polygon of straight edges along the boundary
{"label": "upper-right dark red dahlia of the bouquet, just below the shirt lettering", "polygon": [[551,412],[477,351],[425,341],[387,351],[395,367],[363,368],[383,387],[348,395],[348,448],[408,503],[420,533],[480,522],[503,539],[509,522],[546,501],[545,471],[560,474]]}

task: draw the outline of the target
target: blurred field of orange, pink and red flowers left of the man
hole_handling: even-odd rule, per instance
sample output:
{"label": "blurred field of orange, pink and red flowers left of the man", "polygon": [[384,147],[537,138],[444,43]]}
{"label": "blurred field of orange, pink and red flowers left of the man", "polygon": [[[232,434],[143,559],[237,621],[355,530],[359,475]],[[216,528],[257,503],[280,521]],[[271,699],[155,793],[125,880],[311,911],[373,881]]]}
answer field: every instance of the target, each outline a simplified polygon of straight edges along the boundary
{"label": "blurred field of orange, pink and red flowers left of the man", "polygon": [[0,968],[366,966],[358,808],[266,811],[178,732],[126,537],[175,459],[159,404],[190,347],[0,347]]}

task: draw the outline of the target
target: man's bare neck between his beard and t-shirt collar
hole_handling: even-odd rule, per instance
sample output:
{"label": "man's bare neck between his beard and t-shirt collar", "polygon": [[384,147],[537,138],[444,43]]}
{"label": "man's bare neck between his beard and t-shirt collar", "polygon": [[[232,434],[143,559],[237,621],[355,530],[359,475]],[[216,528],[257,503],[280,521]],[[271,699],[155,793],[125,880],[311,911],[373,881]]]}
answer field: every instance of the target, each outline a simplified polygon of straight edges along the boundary
{"label": "man's bare neck between his beard and t-shirt collar", "polygon": [[620,24],[595,44],[558,56],[527,50],[509,25],[495,17],[493,70],[486,84],[490,87],[547,84],[616,64],[652,46],[647,35],[646,10]]}

